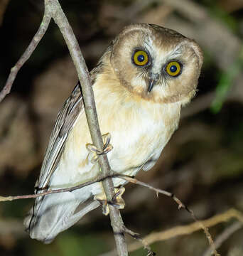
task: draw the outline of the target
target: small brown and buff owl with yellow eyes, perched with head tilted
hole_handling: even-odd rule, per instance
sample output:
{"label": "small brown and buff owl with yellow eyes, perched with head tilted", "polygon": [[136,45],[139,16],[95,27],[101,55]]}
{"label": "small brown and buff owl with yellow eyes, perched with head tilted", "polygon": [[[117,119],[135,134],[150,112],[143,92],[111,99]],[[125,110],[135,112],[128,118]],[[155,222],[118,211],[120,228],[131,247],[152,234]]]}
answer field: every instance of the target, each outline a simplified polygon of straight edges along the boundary
{"label": "small brown and buff owl with yellow eyes, perched with head tilted", "polygon": [[[90,72],[102,134],[111,134],[112,171],[135,176],[148,171],[178,128],[180,109],[195,95],[202,50],[171,29],[133,23],[112,41]],[[92,142],[82,91],[77,85],[60,110],[45,152],[36,193],[68,188],[99,176],[90,160]],[[125,181],[113,178],[114,186]],[[26,220],[31,238],[51,242],[100,206],[102,183],[36,198]]]}

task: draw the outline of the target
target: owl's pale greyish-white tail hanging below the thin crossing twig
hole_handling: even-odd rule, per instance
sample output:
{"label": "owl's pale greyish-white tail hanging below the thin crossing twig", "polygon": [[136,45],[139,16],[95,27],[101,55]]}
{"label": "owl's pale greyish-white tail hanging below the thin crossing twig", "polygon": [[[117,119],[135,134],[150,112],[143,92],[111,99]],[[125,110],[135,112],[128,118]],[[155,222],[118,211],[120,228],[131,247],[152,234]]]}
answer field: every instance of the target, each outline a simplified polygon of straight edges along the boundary
{"label": "owl's pale greyish-white tail hanging below the thin crossing twig", "polygon": [[91,196],[87,186],[72,192],[36,198],[33,208],[24,220],[27,232],[33,239],[44,243],[52,242],[60,232],[70,228],[86,213],[100,205],[97,201],[87,201]]}

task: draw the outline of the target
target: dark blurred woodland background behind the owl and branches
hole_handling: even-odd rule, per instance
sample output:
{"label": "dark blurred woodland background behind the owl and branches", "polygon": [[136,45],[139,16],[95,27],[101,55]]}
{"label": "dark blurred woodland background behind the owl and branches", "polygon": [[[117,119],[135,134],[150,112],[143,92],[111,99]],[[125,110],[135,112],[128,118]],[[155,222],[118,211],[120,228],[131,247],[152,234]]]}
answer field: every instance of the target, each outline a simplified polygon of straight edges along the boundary
{"label": "dark blurred woodland background behind the owl and branches", "polygon": [[[109,42],[131,22],[156,23],[194,38],[205,62],[198,95],[182,112],[180,127],[153,170],[138,178],[175,193],[200,219],[243,211],[243,1],[60,1],[92,70]],[[36,33],[43,1],[0,0],[0,88]],[[52,21],[11,94],[0,104],[0,195],[33,193],[56,115],[77,82],[64,40]],[[193,223],[164,196],[129,184],[121,210],[128,228],[143,237]],[[99,255],[114,248],[101,209],[58,235],[50,245],[31,240],[23,218],[33,200],[0,205],[0,255]],[[234,218],[213,225],[217,240]],[[243,255],[243,229],[222,242],[221,255]],[[133,242],[130,238],[129,242]],[[151,245],[157,255],[204,255],[202,230]],[[131,255],[146,255],[145,250]],[[205,256],[205,255],[204,255]]]}

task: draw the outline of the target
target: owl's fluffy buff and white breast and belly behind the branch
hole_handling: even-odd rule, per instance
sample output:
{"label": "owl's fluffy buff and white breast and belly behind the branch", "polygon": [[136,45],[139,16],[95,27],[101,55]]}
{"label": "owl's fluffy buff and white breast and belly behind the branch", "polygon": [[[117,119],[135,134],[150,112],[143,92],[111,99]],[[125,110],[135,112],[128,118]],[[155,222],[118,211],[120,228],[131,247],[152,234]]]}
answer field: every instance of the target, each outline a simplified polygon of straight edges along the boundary
{"label": "owl's fluffy buff and white breast and belly behind the branch", "polygon": [[[101,85],[94,85],[94,92],[101,132],[112,136],[113,149],[107,154],[109,164],[113,171],[135,175],[148,161],[158,159],[178,127],[180,105],[148,102]],[[91,142],[82,112],[68,136],[58,170],[68,183],[85,182],[97,176],[98,170],[88,161],[85,146]]]}

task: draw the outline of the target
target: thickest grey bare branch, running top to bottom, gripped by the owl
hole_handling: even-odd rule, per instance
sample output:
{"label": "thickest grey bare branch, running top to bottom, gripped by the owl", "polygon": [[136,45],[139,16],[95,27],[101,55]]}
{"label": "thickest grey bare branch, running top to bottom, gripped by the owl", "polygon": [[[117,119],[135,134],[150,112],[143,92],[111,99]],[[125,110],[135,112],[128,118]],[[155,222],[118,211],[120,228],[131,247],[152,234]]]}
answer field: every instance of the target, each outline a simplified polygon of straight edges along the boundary
{"label": "thickest grey bare branch, running top to bottom, gripped by the owl", "polygon": [[[104,144],[99,129],[94,92],[92,90],[92,84],[90,75],[87,70],[87,65],[77,43],[77,39],[75,38],[72,28],[68,23],[68,19],[63,13],[58,0],[45,0],[45,8],[53,11],[53,19],[60,28],[60,31],[63,34],[63,38],[65,39],[65,43],[67,44],[70,51],[70,55],[72,56],[72,60],[75,64],[77,75],[82,87],[82,96],[85,103],[85,114],[87,117],[87,123],[90,128],[92,142],[99,151],[102,151]],[[101,167],[102,174],[104,174],[104,176],[109,176],[111,174],[111,169],[106,154],[99,156],[99,166]],[[107,196],[107,201],[112,201],[114,196],[114,185],[112,178],[106,178],[104,181],[102,181],[102,184],[104,187],[104,192]],[[128,255],[128,252],[124,238],[124,232],[122,230],[124,223],[122,221],[119,209],[109,205],[109,216],[114,232],[114,238],[117,244],[118,255],[126,256]]]}

